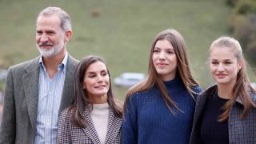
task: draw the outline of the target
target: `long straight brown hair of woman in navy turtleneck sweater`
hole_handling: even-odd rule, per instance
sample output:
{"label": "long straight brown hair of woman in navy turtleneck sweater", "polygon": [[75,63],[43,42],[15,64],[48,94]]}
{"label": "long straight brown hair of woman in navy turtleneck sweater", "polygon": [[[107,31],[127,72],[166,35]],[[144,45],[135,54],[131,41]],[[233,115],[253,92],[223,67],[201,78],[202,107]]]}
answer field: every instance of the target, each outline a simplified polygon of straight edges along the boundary
{"label": "long straight brown hair of woman in navy turtleneck sweater", "polygon": [[[161,40],[167,40],[170,42],[170,44],[174,47],[174,52],[177,56],[177,74],[176,76],[179,76],[182,78],[182,83],[186,87],[186,90],[189,91],[189,93],[194,94],[194,86],[198,86],[198,82],[194,80],[192,77],[192,74],[190,72],[190,65],[188,62],[187,54],[186,54],[186,43],[184,41],[184,38],[182,38],[182,35],[178,33],[177,30],[174,29],[167,29],[160,32],[155,38],[154,42],[151,46],[150,50],[150,61],[149,61],[149,68],[148,73],[146,75],[146,78],[139,83],[138,85],[132,86],[129,90],[126,92],[126,101],[124,103],[124,109],[126,110],[126,103],[128,102],[130,96],[138,91],[143,90],[150,90],[155,84],[160,89],[160,93],[162,95],[162,98],[164,102],[166,103],[166,106],[170,113],[174,114],[174,110],[172,110],[171,106],[174,106],[175,109],[178,109],[178,106],[176,103],[170,98],[170,95],[168,94],[166,90],[166,86],[162,79],[159,77],[159,74],[154,68],[152,55],[154,52],[154,46],[156,42]],[[170,106],[171,105],[171,106]],[[174,114],[175,115],[175,114]]]}

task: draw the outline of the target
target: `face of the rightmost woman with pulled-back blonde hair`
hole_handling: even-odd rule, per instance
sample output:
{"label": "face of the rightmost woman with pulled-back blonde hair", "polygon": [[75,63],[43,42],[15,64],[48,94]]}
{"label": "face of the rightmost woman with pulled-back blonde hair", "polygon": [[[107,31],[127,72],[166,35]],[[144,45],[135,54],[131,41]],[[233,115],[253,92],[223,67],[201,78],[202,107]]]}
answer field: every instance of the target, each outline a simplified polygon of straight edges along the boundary
{"label": "face of the rightmost woman with pulled-back blonde hair", "polygon": [[215,47],[210,52],[210,73],[218,84],[234,85],[241,68],[242,61],[238,62],[229,47]]}

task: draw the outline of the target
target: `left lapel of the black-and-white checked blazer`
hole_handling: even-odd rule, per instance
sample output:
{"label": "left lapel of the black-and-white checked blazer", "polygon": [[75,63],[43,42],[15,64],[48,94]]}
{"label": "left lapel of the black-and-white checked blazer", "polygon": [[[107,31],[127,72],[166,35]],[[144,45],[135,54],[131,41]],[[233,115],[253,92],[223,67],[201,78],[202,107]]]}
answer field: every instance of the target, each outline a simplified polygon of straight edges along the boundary
{"label": "left lapel of the black-and-white checked blazer", "polygon": [[84,118],[86,120],[86,128],[83,128],[85,134],[92,140],[93,143],[100,143],[98,134],[94,128],[93,120],[90,118],[90,113],[87,108],[84,113]]}

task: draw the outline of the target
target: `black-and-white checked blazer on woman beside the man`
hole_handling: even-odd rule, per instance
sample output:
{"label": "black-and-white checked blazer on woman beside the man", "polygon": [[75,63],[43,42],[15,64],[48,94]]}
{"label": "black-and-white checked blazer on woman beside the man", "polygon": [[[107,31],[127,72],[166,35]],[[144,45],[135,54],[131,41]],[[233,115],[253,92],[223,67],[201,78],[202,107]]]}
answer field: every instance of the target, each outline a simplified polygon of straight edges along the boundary
{"label": "black-and-white checked blazer on woman beside the man", "polygon": [[[70,120],[68,110],[63,110],[58,122],[58,138],[57,143],[84,143],[84,144],[99,144],[98,134],[94,128],[94,124],[90,117],[89,110],[86,109],[83,116],[86,120],[86,128],[74,126]],[[110,109],[109,123],[106,132],[106,144],[120,144],[122,119],[116,118],[114,112]]]}

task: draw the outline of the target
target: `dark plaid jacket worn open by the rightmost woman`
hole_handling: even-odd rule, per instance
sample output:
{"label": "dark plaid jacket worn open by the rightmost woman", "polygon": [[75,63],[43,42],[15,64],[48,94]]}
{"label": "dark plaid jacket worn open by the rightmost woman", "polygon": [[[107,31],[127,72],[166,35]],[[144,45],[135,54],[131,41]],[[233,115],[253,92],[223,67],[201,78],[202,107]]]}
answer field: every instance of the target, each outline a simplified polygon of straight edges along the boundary
{"label": "dark plaid jacket worn open by the rightmost woman", "polygon": [[[210,86],[197,97],[197,104],[194,112],[194,125],[190,137],[190,144],[200,144],[200,117],[206,99],[215,94],[217,86]],[[256,103],[256,94],[249,91],[250,98]],[[230,116],[228,119],[229,125],[229,140],[230,144],[255,144],[256,143],[256,108],[251,108],[246,118],[241,119],[243,104],[242,98],[238,97],[233,106],[231,106]]]}

